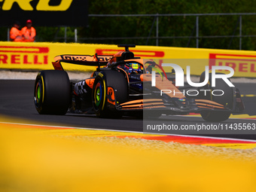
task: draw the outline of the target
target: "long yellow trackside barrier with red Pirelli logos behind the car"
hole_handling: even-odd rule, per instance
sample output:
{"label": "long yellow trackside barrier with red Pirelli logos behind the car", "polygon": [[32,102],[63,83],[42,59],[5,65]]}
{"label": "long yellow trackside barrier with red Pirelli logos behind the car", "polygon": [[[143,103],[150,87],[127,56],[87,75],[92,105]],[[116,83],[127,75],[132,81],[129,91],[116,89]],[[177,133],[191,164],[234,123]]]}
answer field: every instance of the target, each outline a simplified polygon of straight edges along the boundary
{"label": "long yellow trackside barrier with red Pirelli logos behind the car", "polygon": [[[60,54],[114,54],[123,47],[106,44],[65,44],[65,43],[18,43],[0,42],[0,69],[53,69],[51,62]],[[256,75],[256,51],[214,50],[181,47],[136,46],[130,48],[136,56],[157,59],[161,64],[177,62],[186,72],[190,66],[191,75],[200,75],[205,66],[230,66],[235,77],[254,78]],[[66,70],[92,71],[94,67],[65,65]]]}

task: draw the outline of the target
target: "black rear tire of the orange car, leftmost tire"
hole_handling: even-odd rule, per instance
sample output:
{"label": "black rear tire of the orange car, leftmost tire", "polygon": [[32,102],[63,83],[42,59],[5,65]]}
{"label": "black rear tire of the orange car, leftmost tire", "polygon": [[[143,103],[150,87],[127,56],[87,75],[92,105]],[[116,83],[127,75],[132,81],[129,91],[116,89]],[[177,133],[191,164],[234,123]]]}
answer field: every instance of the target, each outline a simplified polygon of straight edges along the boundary
{"label": "black rear tire of the orange car, leftmost tire", "polygon": [[71,96],[69,75],[65,71],[45,70],[38,73],[34,100],[39,114],[66,114]]}

